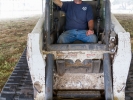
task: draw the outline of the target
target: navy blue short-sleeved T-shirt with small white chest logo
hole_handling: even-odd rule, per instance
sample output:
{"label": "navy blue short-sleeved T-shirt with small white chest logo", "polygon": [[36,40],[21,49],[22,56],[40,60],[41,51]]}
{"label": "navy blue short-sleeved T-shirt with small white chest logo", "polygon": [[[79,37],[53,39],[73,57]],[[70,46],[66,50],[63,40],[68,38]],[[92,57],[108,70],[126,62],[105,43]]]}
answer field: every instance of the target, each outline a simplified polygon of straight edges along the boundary
{"label": "navy blue short-sleeved T-shirt with small white chest logo", "polygon": [[61,10],[66,14],[66,30],[87,30],[88,21],[93,20],[92,8],[84,2],[63,2]]}

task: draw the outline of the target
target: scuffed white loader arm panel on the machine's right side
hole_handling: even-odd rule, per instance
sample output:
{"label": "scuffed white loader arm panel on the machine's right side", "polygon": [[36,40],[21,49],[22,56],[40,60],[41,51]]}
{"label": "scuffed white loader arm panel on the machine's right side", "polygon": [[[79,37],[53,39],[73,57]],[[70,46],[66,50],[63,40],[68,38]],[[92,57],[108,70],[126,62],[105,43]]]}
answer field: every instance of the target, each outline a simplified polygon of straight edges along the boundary
{"label": "scuffed white loader arm panel on the machine's right side", "polygon": [[131,62],[130,33],[124,30],[114,15],[111,17],[114,31],[118,34],[118,49],[113,61],[114,100],[125,100],[125,87]]}

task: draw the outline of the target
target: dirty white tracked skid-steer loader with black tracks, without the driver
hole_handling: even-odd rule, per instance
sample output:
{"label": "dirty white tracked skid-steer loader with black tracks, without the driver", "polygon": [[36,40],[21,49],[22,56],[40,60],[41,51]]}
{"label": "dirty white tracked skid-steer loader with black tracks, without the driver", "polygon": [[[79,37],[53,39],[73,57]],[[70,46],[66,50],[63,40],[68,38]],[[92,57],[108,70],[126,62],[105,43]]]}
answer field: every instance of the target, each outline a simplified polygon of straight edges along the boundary
{"label": "dirty white tracked skid-steer loader with black tracks, without the driver", "polygon": [[109,0],[83,2],[92,6],[97,43],[57,44],[65,14],[46,0],[0,100],[133,100],[130,33]]}

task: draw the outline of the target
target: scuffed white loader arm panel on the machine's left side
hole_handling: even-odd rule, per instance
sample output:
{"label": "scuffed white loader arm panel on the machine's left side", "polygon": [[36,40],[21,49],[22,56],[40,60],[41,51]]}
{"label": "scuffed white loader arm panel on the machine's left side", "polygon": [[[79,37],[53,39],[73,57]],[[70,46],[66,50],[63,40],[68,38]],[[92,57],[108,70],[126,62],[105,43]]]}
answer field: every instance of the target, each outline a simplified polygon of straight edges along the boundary
{"label": "scuffed white loader arm panel on the machine's left side", "polygon": [[27,61],[34,88],[34,99],[44,100],[45,97],[45,59],[42,56],[42,30],[44,14],[33,31],[28,34]]}

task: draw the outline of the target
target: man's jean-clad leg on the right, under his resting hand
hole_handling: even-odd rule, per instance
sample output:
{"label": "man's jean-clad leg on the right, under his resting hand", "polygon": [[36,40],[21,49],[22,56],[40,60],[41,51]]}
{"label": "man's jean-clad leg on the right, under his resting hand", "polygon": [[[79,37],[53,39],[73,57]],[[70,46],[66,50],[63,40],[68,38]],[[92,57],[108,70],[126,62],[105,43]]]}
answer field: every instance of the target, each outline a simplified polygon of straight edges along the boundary
{"label": "man's jean-clad leg on the right, under his resting hand", "polygon": [[79,30],[78,31],[78,35],[77,35],[77,39],[81,40],[85,43],[96,43],[97,42],[97,37],[95,34],[92,35],[86,35],[86,30]]}

